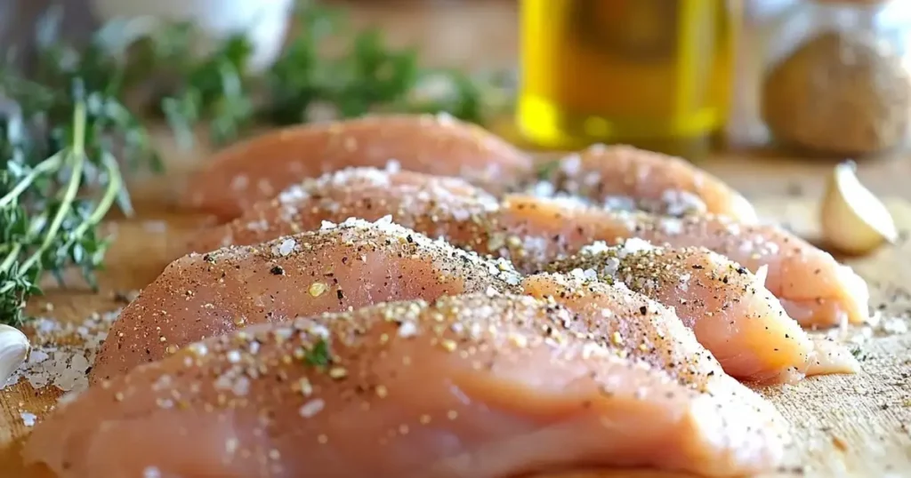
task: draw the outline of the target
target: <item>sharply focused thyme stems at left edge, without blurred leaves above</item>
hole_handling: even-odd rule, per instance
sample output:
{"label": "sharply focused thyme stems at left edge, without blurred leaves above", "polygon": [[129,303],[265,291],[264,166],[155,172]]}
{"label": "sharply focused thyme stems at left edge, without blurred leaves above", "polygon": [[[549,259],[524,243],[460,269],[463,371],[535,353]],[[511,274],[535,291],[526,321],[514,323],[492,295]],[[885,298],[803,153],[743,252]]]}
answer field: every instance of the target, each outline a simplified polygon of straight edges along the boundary
{"label": "sharply focused thyme stems at left edge, without blurred leaves above", "polygon": [[[20,147],[15,124],[7,120],[8,145]],[[0,319],[18,324],[28,296],[40,292],[38,280],[49,272],[63,282],[64,270],[75,266],[88,284],[96,288],[97,270],[107,250],[107,240],[97,235],[97,225],[122,196],[122,178],[117,161],[107,151],[89,158],[87,106],[74,106],[72,127],[60,139],[67,146],[34,166],[9,159],[0,173]],[[24,150],[20,150],[24,151]],[[20,157],[25,158],[25,156]],[[84,181],[95,175],[104,190],[97,201],[80,198]]]}

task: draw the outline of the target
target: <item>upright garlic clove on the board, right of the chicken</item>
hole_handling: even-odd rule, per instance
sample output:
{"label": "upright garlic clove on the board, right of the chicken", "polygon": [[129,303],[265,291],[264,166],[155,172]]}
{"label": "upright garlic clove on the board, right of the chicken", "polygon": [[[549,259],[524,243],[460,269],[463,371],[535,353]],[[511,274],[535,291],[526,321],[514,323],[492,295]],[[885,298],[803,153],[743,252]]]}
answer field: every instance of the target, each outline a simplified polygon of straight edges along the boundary
{"label": "upright garlic clove on the board, right of the chicken", "polygon": [[857,179],[853,161],[835,167],[821,212],[824,238],[843,252],[865,254],[898,238],[895,220],[883,202]]}

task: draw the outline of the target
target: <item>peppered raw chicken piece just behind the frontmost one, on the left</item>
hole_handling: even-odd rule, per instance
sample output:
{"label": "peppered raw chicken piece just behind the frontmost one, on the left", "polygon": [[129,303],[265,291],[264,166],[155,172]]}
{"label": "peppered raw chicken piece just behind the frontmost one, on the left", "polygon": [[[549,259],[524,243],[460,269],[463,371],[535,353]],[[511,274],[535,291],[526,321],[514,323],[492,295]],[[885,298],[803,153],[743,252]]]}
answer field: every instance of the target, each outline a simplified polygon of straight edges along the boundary
{"label": "peppered raw chicken piece just behind the frontmost one, on the left", "polygon": [[481,259],[389,218],[190,254],[172,262],[120,313],[90,378],[110,378],[248,324],[387,300],[507,291],[519,280],[505,259]]}

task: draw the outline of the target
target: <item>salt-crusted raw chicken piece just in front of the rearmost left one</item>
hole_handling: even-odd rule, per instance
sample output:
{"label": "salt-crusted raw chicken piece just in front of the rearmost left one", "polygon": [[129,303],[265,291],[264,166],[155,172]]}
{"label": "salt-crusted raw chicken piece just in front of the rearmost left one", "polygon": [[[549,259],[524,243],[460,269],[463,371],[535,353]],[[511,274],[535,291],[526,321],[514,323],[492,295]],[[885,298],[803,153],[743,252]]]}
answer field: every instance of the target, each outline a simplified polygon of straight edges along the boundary
{"label": "salt-crusted raw chicken piece just in front of the rearmost left one", "polygon": [[345,168],[306,179],[277,198],[254,204],[241,218],[201,230],[189,246],[177,244],[175,255],[257,244],[318,229],[323,220],[375,220],[390,214],[397,224],[464,247],[486,234],[473,226],[476,219],[497,208],[494,196],[464,179],[395,169]]}

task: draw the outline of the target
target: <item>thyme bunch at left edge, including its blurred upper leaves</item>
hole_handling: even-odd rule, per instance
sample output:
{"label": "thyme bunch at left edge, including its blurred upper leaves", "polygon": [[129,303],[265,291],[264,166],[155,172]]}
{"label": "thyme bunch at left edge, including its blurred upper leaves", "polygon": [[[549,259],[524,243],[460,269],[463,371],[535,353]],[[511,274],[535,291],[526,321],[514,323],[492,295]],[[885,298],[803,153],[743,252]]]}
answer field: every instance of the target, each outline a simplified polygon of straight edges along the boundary
{"label": "thyme bunch at left edge, including its blurred upper leaves", "polygon": [[[57,19],[59,16],[57,16]],[[58,41],[54,15],[39,31],[35,71],[0,66],[0,321],[19,324],[45,273],[75,269],[93,289],[108,240],[98,224],[132,207],[116,158],[160,163],[123,103],[128,65],[94,38]]]}

